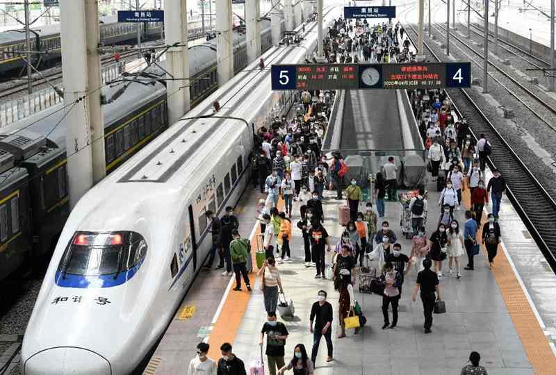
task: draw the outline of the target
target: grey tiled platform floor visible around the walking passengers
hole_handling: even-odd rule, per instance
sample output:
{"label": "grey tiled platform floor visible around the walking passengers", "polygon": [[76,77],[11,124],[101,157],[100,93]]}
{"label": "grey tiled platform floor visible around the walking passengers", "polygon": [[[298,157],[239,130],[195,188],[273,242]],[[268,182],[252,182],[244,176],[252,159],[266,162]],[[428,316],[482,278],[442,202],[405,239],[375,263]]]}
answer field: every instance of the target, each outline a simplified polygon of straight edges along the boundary
{"label": "grey tiled platform floor visible around the walking passengers", "polygon": [[[427,186],[427,235],[436,229],[439,216],[439,193],[434,185],[430,182]],[[244,237],[250,235],[252,244],[256,243],[254,236],[259,231],[256,202],[262,197],[255,191],[248,188],[234,210],[240,233]],[[466,192],[464,202],[468,202]],[[332,192],[325,191],[325,228],[333,245],[343,232],[337,220],[338,203]],[[314,279],[313,267],[304,267],[302,235],[295,227],[300,219],[299,205],[295,203],[292,218],[293,261],[278,265],[286,296],[295,305],[295,317],[279,317],[290,333],[286,341],[286,363],[293,355],[295,344],[303,343],[310,350],[313,339],[309,333],[309,313],[318,290],[324,289],[335,313],[334,361],[325,362],[326,349],[322,342],[315,374],[459,374],[471,351],[480,352],[481,363],[491,375],[554,374],[554,346],[543,320],[553,319],[556,313],[555,301],[550,299],[556,276],[543,267],[540,251],[527,239],[528,232],[506,199],[502,200],[500,210],[503,244],[493,271],[487,267],[484,249],[475,257],[474,271],[463,270],[466,256],[461,257],[463,276],[459,279],[455,274],[448,274],[448,260],[445,260],[445,276],[440,285],[448,311],[434,315],[431,335],[423,333],[420,301],[411,301],[416,279],[416,272],[411,269],[404,281],[398,326],[383,331],[382,299],[359,293],[355,285],[355,297],[368,323],[359,335],[347,330],[347,338],[343,339],[336,338],[338,292],[334,291],[332,281]],[[455,211],[455,217],[464,223],[463,208]],[[382,219],[389,221],[402,244],[402,252],[409,255],[411,242],[400,231],[400,203],[386,202],[386,216]],[[236,356],[248,368],[259,356],[259,333],[266,320],[259,278],[255,274],[250,276],[253,291],[247,292],[244,285],[242,292],[235,292],[231,290],[235,283],[233,277],[202,271],[145,374],[183,374],[200,341],[211,344],[210,356],[215,360],[220,357],[220,344],[230,342]]]}

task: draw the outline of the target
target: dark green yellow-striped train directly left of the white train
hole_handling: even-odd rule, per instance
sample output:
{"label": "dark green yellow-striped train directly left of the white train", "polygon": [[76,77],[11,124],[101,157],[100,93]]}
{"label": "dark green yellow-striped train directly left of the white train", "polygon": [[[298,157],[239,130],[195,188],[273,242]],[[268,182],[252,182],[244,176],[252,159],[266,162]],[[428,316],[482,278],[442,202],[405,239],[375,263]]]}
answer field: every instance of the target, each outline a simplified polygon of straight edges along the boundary
{"label": "dark green yellow-striped train directly left of the white train", "polygon": [[[262,19],[261,48],[270,48]],[[215,40],[190,47],[192,108],[218,87]],[[164,61],[160,63],[164,66]],[[234,31],[234,70],[247,65],[245,32]],[[153,81],[145,82],[147,78]],[[154,66],[111,101],[121,86],[101,90],[106,172],[111,173],[167,128],[165,73]],[[63,103],[0,128],[0,281],[28,258],[51,253],[69,214]],[[17,165],[16,165],[17,163]],[[0,290],[1,293],[1,290]],[[0,296],[1,297],[1,296]]]}

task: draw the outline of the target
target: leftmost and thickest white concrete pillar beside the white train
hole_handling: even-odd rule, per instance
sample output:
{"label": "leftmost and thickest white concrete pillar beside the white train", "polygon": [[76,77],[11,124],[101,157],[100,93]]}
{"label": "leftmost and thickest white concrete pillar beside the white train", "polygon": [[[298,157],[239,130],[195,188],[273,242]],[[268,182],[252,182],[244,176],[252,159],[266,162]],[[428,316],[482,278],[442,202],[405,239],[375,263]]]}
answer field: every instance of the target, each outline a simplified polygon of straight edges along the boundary
{"label": "leftmost and thickest white concrete pillar beside the white train", "polygon": [[85,1],[60,1],[60,18],[64,20],[60,23],[65,106],[63,122],[66,126],[67,176],[71,208],[93,183],[92,150],[89,147],[91,128],[85,5]]}

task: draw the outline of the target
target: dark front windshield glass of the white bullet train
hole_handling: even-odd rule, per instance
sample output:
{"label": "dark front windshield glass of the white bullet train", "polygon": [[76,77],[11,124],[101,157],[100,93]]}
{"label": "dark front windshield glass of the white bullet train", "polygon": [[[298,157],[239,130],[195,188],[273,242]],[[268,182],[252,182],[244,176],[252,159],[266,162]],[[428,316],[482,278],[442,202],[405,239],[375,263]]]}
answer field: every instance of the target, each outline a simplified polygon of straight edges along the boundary
{"label": "dark front windshield glass of the white bullet train", "polygon": [[76,232],[65,249],[58,271],[81,276],[115,275],[140,264],[147,242],[136,232]]}

